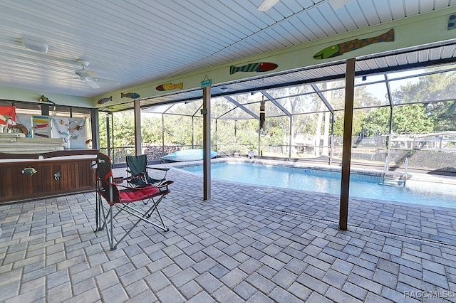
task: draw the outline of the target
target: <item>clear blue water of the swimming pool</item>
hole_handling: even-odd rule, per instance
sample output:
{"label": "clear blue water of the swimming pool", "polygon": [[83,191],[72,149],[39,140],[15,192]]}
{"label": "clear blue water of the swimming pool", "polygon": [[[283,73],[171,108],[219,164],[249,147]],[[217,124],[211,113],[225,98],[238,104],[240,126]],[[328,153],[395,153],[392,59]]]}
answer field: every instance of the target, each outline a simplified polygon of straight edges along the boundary
{"label": "clear blue water of the swimming pool", "polygon": [[[180,167],[202,174],[202,165]],[[302,191],[341,194],[341,173],[289,166],[272,166],[242,162],[220,162],[211,165],[213,179],[264,186],[294,188]],[[410,179],[405,186],[382,184],[381,176],[350,175],[350,196],[383,201],[456,208],[455,186]]]}

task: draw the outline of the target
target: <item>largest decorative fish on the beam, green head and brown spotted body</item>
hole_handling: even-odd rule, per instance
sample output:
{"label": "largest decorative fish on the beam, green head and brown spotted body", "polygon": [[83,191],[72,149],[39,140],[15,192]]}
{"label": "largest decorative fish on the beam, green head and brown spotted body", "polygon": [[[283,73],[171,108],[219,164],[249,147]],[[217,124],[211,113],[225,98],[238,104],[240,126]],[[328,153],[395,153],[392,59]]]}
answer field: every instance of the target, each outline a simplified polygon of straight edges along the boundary
{"label": "largest decorative fish on the beam, green head and brown spotted body", "polygon": [[365,38],[365,39],[353,39],[351,41],[346,41],[338,43],[334,46],[328,46],[323,50],[320,50],[314,55],[314,59],[327,59],[337,57],[338,55],[343,55],[348,53],[351,50],[356,50],[358,48],[363,48],[365,46],[371,45],[373,43],[379,42],[391,42],[394,41],[394,28],[391,28],[386,33],[378,35],[376,37]]}

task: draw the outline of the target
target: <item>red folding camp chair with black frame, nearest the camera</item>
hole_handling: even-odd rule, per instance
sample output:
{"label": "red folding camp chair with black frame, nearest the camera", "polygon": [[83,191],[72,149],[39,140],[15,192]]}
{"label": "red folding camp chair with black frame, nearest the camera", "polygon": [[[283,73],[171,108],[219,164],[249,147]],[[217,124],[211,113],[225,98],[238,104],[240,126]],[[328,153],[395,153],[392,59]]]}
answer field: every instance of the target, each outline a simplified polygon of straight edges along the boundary
{"label": "red folding camp chair with black frame, nearest the camera", "polygon": [[[97,203],[95,207],[95,217],[97,230],[106,228],[108,241],[111,250],[115,250],[117,245],[130,234],[141,221],[150,223],[156,228],[168,231],[169,228],[163,222],[158,205],[165,196],[170,193],[168,186],[173,181],[165,181],[160,186],[147,184],[142,187],[124,186],[123,181],[130,181],[133,176],[128,178],[114,178],[111,170],[111,161],[109,157],[103,153],[97,155]],[[107,207],[103,200],[107,202]],[[142,205],[135,205],[135,202],[142,201]],[[138,204],[138,203],[137,203]],[[135,206],[135,207],[134,207]],[[115,217],[120,213],[128,213],[129,215],[138,218],[136,222],[132,222],[133,226],[125,233],[120,233],[121,238],[115,239],[114,225]],[[152,222],[150,217],[155,213],[158,223]]]}

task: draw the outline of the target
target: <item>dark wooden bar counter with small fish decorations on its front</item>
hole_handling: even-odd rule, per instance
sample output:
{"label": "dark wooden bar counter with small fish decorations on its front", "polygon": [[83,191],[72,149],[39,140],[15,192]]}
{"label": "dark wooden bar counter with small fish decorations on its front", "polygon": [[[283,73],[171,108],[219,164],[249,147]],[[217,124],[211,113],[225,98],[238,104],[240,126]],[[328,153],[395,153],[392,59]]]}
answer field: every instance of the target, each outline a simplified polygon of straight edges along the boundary
{"label": "dark wooden bar counter with small fish decorations on its front", "polygon": [[95,190],[97,149],[0,152],[0,204]]}

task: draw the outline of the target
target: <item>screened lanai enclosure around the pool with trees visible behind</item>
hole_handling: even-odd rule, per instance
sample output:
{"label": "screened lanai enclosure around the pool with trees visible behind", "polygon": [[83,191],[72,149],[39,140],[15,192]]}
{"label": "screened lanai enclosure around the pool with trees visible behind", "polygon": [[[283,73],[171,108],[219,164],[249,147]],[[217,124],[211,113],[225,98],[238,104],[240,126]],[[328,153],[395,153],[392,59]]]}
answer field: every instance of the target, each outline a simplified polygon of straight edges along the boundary
{"label": "screened lanai enclosure around the pool with trees visible behind", "polygon": [[[356,77],[352,162],[455,169],[455,80],[456,65]],[[219,156],[338,164],[344,85],[339,78],[213,96],[211,148]],[[142,153],[154,162],[173,151],[202,148],[201,109],[202,98],[141,105]],[[133,110],[100,112],[100,147],[115,164],[135,154],[134,119]]]}

